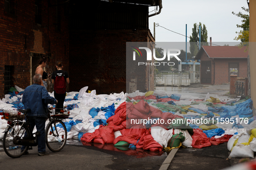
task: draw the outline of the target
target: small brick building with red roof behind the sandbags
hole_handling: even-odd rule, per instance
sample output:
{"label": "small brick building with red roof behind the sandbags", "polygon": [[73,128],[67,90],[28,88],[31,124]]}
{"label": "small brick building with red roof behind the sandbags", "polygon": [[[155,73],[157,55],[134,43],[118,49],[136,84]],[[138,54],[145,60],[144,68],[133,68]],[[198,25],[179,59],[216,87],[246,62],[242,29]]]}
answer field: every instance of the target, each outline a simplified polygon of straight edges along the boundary
{"label": "small brick building with red roof behind the sandbags", "polygon": [[230,75],[247,77],[246,47],[202,46],[196,55],[201,60],[201,84],[220,85],[230,82]]}

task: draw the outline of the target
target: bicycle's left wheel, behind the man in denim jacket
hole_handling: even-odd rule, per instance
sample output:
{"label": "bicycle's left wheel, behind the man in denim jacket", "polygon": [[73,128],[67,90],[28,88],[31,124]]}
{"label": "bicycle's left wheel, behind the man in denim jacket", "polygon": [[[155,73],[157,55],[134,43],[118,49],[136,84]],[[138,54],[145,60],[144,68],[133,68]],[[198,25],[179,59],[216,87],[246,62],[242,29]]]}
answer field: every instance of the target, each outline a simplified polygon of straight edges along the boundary
{"label": "bicycle's left wheel, behind the man in denim jacket", "polygon": [[20,150],[22,145],[14,144],[15,141],[22,139],[27,133],[27,137],[30,137],[30,132],[28,127],[21,126],[22,124],[15,124],[8,127],[7,131],[3,135],[3,150],[5,153],[12,158],[21,157],[24,152],[28,149],[25,147],[23,151]]}

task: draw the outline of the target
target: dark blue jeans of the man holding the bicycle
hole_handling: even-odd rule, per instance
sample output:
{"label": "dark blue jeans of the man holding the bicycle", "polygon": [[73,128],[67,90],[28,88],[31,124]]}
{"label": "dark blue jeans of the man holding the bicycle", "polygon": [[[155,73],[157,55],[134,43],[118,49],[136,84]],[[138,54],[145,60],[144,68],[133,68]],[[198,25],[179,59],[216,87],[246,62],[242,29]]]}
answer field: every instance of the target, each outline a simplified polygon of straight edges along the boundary
{"label": "dark blue jeans of the man holding the bicycle", "polygon": [[[38,142],[38,152],[45,152],[45,117],[38,117],[38,116],[29,116],[29,125],[31,131],[33,131],[34,127],[36,126],[37,132],[40,132],[39,135],[37,135],[37,142]],[[25,133],[26,137],[26,133]],[[21,150],[24,150],[25,146],[21,147]]]}

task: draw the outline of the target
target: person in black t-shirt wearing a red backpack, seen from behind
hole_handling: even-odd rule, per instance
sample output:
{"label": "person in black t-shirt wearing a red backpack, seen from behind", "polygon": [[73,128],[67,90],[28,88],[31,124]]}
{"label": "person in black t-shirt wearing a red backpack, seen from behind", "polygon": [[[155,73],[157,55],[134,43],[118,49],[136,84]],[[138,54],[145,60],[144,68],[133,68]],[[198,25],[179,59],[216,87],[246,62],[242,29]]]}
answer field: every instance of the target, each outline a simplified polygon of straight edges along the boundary
{"label": "person in black t-shirt wearing a red backpack, seen from behind", "polygon": [[[62,63],[58,62],[57,65],[56,65],[56,68],[57,68],[57,70],[52,73],[52,84],[54,85],[55,78],[57,76],[63,76],[66,83],[69,84],[68,72],[62,70],[63,69]],[[56,91],[54,89],[54,98],[56,100],[58,100],[58,104],[56,104],[56,107],[55,107],[55,114],[57,114],[60,110],[63,109],[63,104],[64,104],[64,101],[65,101],[65,97],[66,97],[66,93],[58,94],[58,93],[56,93]]]}

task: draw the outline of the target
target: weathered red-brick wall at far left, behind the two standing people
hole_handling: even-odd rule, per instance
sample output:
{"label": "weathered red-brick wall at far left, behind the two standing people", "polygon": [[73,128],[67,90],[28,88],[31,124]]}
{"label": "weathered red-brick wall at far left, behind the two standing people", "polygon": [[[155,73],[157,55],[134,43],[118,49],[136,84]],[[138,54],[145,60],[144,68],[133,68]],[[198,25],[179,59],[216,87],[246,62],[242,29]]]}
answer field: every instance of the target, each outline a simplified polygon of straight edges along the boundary
{"label": "weathered red-brick wall at far left, behind the two standing people", "polygon": [[[50,2],[55,3],[53,0]],[[48,10],[48,0],[42,0],[42,25],[37,25],[35,0],[17,1],[15,15],[6,13],[4,1],[0,3],[0,98],[4,97],[5,65],[13,66],[13,85],[26,88],[31,84],[31,76],[34,75],[31,70],[34,66],[31,64],[30,52],[47,55],[50,50],[52,59],[47,63],[46,71],[54,71],[55,63],[62,61],[64,69],[69,72],[67,17],[63,6],[58,6],[62,20],[61,31],[56,31],[56,8],[49,7]]]}

